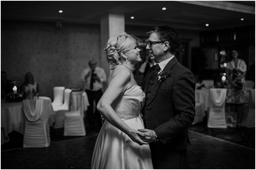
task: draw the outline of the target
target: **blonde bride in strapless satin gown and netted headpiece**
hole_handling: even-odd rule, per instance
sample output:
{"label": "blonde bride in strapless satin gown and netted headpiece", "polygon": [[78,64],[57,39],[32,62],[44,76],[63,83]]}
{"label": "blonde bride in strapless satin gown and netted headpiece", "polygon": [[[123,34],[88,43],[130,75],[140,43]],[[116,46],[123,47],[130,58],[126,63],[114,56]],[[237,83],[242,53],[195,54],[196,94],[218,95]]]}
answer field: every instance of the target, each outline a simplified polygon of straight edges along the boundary
{"label": "blonde bride in strapless satin gown and netted headpiece", "polygon": [[113,71],[97,104],[105,122],[96,140],[92,169],[153,169],[149,145],[137,131],[144,129],[140,113],[145,102],[132,73],[141,61],[139,44],[140,39],[124,32],[110,38],[104,48]]}

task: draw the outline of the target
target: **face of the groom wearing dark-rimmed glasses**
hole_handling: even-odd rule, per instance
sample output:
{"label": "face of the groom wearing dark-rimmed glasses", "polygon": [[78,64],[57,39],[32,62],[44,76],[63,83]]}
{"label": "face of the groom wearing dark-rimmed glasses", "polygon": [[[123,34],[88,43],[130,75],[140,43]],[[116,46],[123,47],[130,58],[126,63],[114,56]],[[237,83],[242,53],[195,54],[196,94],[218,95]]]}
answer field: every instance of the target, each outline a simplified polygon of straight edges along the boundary
{"label": "face of the groom wearing dark-rimmed glasses", "polygon": [[155,41],[160,41],[156,33],[150,34],[148,41],[151,41],[151,47],[146,46],[146,49],[149,50],[150,58],[156,62],[161,62],[161,58],[164,55],[163,53],[163,43],[154,43]]}

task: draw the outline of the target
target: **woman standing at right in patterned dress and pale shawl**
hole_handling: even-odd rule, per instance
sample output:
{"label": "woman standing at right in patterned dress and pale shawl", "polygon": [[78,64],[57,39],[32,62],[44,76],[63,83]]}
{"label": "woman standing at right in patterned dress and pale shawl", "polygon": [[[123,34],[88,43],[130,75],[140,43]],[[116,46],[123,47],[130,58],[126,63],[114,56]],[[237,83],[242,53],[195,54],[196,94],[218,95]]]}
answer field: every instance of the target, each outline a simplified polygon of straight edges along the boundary
{"label": "woman standing at right in patterned dress and pale shawl", "polygon": [[226,103],[229,113],[236,112],[237,126],[241,126],[241,117],[243,115],[243,104],[247,103],[247,93],[245,90],[245,61],[238,58],[238,52],[232,50],[232,60],[226,66],[227,96]]}

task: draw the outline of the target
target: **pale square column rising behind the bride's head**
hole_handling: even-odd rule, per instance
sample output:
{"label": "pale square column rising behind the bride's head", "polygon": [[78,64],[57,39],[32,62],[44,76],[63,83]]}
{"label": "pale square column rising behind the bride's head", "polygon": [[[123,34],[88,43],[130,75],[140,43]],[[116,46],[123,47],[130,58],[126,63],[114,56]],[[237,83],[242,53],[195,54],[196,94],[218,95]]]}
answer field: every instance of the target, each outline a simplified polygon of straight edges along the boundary
{"label": "pale square column rising behind the bride's head", "polygon": [[103,49],[110,37],[113,37],[124,30],[124,14],[123,13],[108,13],[100,18],[100,66],[105,70],[107,77],[110,75],[110,69],[106,62],[106,54]]}

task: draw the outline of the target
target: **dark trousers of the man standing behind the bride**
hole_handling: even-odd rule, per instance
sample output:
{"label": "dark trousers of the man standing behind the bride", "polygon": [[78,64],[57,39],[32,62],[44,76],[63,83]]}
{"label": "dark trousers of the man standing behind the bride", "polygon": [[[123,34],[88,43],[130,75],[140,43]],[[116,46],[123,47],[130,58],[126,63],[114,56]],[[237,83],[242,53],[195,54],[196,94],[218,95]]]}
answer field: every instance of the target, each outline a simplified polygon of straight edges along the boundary
{"label": "dark trousers of the man standing behind the bride", "polygon": [[97,109],[95,111],[95,114],[93,113],[93,104],[95,101],[97,105],[103,93],[101,90],[98,90],[98,91],[85,90],[85,92],[87,93],[89,104],[90,104],[87,110],[87,118],[89,120],[90,127],[93,128],[95,126],[101,126],[100,113],[98,112]]}

